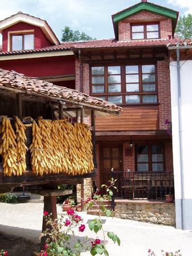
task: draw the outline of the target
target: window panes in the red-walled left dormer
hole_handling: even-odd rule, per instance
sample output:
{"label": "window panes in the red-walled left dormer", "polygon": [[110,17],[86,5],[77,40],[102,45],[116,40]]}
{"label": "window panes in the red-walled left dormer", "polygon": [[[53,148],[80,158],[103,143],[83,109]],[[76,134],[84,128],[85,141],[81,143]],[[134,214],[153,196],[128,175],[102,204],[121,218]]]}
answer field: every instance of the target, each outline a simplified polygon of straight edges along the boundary
{"label": "window panes in the red-walled left dormer", "polygon": [[11,35],[11,50],[31,50],[34,49],[34,34]]}

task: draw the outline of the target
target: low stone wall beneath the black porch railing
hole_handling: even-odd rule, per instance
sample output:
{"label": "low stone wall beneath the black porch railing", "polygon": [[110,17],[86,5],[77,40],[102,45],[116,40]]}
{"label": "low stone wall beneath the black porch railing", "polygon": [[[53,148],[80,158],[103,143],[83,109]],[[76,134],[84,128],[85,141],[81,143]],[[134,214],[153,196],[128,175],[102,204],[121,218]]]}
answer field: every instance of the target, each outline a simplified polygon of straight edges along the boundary
{"label": "low stone wall beneath the black porch railing", "polygon": [[115,216],[154,224],[175,225],[175,205],[168,202],[116,200]]}

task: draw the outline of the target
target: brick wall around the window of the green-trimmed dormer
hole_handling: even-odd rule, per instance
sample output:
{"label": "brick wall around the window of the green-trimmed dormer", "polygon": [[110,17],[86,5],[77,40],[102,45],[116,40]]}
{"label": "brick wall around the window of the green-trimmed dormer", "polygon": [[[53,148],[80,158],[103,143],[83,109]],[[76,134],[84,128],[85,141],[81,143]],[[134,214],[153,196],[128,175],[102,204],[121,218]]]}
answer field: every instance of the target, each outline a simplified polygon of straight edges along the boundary
{"label": "brick wall around the window of the green-trimmed dormer", "polygon": [[130,40],[130,24],[142,22],[159,22],[161,38],[168,39],[168,35],[172,35],[171,19],[149,11],[140,11],[119,22],[119,40]]}

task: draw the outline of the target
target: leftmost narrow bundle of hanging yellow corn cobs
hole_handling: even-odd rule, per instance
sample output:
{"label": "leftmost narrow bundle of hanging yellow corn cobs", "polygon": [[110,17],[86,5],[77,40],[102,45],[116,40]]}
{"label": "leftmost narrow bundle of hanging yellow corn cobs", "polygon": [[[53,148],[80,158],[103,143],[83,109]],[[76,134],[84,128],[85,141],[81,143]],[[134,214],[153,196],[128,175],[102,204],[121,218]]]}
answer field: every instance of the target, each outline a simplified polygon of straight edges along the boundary
{"label": "leftmost narrow bundle of hanging yellow corn cobs", "polygon": [[18,170],[16,139],[17,137],[11,127],[10,120],[6,116],[3,116],[0,155],[3,160],[3,172],[8,176],[17,174]]}

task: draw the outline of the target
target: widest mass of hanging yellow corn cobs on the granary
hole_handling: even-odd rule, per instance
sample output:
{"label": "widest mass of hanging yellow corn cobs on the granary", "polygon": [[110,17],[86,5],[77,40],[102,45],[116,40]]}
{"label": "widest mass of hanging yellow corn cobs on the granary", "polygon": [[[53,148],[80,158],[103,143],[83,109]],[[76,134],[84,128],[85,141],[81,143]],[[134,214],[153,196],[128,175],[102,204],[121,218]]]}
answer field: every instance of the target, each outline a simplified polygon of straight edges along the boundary
{"label": "widest mass of hanging yellow corn cobs on the granary", "polygon": [[32,172],[83,174],[93,169],[91,131],[85,124],[72,125],[66,119],[44,120],[33,125]]}

